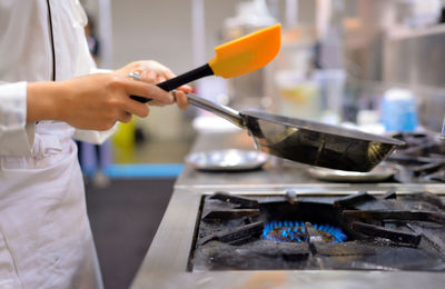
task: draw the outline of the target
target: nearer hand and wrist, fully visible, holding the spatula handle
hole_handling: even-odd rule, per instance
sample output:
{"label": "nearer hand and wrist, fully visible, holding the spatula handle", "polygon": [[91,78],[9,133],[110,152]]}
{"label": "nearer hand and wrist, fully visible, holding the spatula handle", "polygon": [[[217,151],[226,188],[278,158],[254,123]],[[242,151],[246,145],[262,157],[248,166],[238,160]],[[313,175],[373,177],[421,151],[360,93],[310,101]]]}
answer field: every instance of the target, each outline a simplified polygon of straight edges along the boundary
{"label": "nearer hand and wrist, fully visible, holding the spatula handle", "polygon": [[148,116],[149,108],[130,99],[130,94],[161,104],[174,103],[171,94],[154,84],[118,73],[98,73],[60,82],[28,83],[27,122],[61,120],[80,129],[107,130],[116,121],[130,121],[131,114]]}

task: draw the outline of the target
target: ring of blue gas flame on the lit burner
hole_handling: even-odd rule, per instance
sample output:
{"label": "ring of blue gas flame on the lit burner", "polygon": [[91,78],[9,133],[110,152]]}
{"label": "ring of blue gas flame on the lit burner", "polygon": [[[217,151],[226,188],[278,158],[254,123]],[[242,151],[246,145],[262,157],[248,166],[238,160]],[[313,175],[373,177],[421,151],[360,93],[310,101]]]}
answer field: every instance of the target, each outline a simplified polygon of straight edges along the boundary
{"label": "ring of blue gas flame on the lit burner", "polygon": [[[319,231],[327,232],[333,236],[333,243],[344,242],[347,237],[340,228],[329,225],[313,225]],[[273,233],[275,232],[275,233]],[[278,233],[278,235],[277,235]],[[263,229],[263,239],[281,242],[303,242],[306,241],[305,222],[303,221],[271,221]]]}

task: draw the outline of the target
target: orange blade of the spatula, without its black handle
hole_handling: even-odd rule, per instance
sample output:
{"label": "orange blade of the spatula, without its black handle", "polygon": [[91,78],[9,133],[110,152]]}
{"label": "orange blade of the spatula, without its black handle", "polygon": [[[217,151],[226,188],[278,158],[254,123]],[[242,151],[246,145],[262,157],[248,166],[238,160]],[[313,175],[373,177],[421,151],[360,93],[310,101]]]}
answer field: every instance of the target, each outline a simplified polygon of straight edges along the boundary
{"label": "orange blade of the spatula, without its black handle", "polygon": [[269,63],[281,47],[281,24],[275,24],[215,48],[208,64],[216,76],[233,78]]}

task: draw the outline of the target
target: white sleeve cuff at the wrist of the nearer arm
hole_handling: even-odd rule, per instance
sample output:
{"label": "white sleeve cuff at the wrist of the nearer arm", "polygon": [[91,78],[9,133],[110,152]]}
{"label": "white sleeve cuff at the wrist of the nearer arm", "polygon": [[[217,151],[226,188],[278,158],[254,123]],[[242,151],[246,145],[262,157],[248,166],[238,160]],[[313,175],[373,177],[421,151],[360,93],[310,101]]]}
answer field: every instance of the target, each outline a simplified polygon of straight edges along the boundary
{"label": "white sleeve cuff at the wrist of the nearer arm", "polygon": [[32,139],[33,124],[27,126],[27,82],[1,83],[0,156],[29,156]]}

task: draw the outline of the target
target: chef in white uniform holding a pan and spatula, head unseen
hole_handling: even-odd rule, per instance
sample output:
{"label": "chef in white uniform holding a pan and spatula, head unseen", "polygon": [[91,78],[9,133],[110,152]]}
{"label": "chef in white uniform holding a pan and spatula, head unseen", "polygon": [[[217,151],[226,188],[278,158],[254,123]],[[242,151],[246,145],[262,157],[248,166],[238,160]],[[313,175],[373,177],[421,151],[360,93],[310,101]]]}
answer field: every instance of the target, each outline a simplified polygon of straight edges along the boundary
{"label": "chef in white uniform holding a pan and spatula, head unseen", "polygon": [[0,288],[102,288],[72,137],[100,142],[147,117],[130,94],[175,102],[156,61],[92,73],[86,23],[79,0],[0,1]]}

